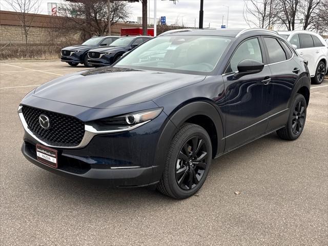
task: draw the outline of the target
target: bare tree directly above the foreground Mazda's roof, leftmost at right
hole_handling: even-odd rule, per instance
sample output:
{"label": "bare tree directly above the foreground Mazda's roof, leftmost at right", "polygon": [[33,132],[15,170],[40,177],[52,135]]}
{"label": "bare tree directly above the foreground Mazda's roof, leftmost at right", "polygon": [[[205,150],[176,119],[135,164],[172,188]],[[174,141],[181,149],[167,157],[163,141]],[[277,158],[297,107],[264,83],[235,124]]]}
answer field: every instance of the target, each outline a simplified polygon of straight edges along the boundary
{"label": "bare tree directly above the foreground Mazda's roof, leftmost at right", "polygon": [[250,27],[272,28],[275,0],[248,0],[244,3],[243,18]]}

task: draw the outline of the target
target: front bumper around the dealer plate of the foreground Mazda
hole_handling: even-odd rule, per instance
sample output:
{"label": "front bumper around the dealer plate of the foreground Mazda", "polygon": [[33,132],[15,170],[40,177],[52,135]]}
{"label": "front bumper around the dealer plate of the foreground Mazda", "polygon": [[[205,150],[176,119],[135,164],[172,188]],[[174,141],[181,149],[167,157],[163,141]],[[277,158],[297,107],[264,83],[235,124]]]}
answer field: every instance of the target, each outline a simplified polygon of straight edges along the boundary
{"label": "front bumper around the dealer plate of the foreground Mazda", "polygon": [[[58,168],[37,160],[36,144],[42,144],[25,130],[23,155],[47,171],[84,180],[101,180],[112,187],[139,187],[158,182],[162,164],[156,151],[162,126],[169,121],[165,113],[145,125],[126,132],[94,135],[84,148],[54,148]],[[170,124],[171,121],[169,121]]]}

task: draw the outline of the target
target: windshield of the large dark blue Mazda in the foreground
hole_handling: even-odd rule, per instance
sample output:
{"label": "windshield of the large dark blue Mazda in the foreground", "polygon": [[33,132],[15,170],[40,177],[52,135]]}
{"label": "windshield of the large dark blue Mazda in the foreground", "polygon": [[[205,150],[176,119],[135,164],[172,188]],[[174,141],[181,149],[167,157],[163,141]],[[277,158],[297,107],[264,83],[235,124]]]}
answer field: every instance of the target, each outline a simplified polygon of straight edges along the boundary
{"label": "windshield of the large dark blue Mazda in the foreground", "polygon": [[220,36],[159,36],[131,51],[115,67],[209,73],[230,42],[231,38]]}

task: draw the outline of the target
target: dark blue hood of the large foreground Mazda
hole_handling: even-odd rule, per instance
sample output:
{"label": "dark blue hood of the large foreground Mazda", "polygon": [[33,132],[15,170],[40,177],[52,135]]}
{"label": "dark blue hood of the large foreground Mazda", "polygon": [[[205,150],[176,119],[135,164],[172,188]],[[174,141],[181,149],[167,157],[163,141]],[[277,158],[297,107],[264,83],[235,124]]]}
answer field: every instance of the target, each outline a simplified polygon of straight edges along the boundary
{"label": "dark blue hood of the large foreground Mazda", "polygon": [[33,96],[89,108],[112,108],[150,101],[206,76],[104,67],[56,78]]}

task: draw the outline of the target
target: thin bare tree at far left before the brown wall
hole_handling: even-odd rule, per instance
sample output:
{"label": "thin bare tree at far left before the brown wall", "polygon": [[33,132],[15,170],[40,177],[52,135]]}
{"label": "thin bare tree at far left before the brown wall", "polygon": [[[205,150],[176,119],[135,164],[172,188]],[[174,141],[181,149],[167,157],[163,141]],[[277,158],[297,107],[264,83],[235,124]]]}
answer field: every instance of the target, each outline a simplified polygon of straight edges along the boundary
{"label": "thin bare tree at far left before the brown wall", "polygon": [[20,25],[25,36],[25,55],[28,56],[28,35],[34,22],[35,15],[28,14],[39,12],[40,1],[39,0],[5,0],[7,4],[17,13]]}

